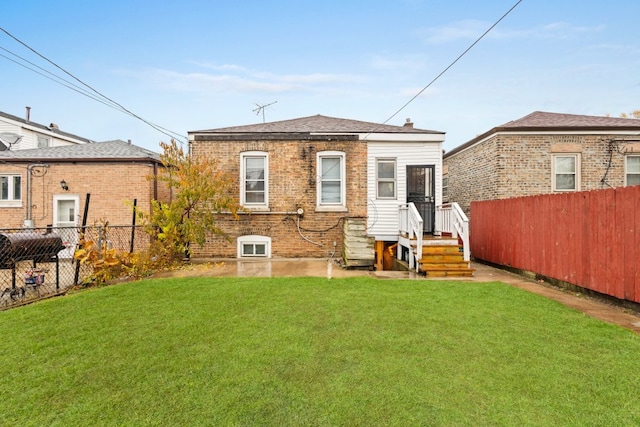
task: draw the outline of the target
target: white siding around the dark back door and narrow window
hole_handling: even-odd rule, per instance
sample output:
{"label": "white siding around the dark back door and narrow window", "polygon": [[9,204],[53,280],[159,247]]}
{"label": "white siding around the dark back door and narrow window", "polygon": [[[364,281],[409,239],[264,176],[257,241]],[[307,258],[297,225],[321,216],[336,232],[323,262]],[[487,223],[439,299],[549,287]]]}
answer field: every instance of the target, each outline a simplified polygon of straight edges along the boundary
{"label": "white siding around the dark back door and narrow window", "polygon": [[[396,200],[376,198],[376,159],[396,159]],[[368,233],[398,239],[398,206],[407,202],[407,165],[435,166],[436,205],[442,204],[442,142],[369,142],[367,159]]]}

